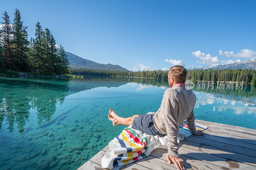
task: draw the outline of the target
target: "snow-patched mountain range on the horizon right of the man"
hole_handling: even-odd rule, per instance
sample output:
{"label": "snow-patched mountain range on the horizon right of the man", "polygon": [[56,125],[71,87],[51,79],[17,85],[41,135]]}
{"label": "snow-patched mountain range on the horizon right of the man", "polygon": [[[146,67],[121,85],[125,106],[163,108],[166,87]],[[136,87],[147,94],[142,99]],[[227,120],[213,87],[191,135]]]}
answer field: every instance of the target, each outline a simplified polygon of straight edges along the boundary
{"label": "snow-patched mountain range on the horizon right of the man", "polygon": [[208,66],[208,67],[191,67],[189,70],[198,70],[198,69],[225,69],[225,68],[230,68],[230,69],[237,69],[237,68],[252,68],[256,69],[256,59],[252,60],[244,60],[244,61],[239,61],[231,64],[226,64],[226,65],[217,65],[217,66]]}

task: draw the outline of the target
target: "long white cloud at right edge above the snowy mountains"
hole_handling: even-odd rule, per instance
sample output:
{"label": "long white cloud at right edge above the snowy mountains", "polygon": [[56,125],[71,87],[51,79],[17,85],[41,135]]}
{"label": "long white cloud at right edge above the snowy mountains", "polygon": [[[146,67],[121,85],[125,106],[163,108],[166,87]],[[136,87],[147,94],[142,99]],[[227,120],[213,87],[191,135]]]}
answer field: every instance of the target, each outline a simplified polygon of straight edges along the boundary
{"label": "long white cloud at right edge above the snowy mountains", "polygon": [[255,59],[256,58],[256,51],[252,51],[249,49],[242,49],[240,52],[235,54],[233,51],[225,51],[219,50],[220,55],[224,55],[229,58],[249,58],[249,59]]}

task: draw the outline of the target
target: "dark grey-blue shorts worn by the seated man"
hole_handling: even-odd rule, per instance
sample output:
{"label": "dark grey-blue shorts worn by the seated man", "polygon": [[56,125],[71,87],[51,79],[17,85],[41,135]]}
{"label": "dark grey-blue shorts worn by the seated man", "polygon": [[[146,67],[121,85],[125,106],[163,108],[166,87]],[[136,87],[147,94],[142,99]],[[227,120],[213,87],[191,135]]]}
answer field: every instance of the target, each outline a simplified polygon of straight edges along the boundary
{"label": "dark grey-blue shorts worn by the seated man", "polygon": [[132,121],[132,128],[153,136],[164,136],[156,130],[153,123],[154,114],[145,114],[135,117]]}

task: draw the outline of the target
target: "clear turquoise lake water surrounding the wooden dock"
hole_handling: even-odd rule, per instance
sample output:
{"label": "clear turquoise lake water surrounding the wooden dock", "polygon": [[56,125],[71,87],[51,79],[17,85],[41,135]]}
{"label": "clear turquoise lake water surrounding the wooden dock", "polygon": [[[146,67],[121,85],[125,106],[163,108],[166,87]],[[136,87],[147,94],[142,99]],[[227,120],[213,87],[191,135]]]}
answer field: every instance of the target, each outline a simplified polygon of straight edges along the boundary
{"label": "clear turquoise lake water surrounding the wooden dock", "polygon": [[[193,89],[196,119],[255,129],[256,88]],[[0,169],[77,169],[125,126],[119,116],[156,112],[168,81],[0,77]]]}

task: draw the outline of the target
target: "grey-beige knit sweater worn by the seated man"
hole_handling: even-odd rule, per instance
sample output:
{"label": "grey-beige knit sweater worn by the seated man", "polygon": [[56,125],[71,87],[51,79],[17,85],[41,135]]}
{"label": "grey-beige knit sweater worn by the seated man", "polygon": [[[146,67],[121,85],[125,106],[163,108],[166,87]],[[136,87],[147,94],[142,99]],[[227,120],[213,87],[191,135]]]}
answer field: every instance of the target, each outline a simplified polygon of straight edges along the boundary
{"label": "grey-beige knit sweater worn by the seated man", "polygon": [[167,134],[168,154],[179,157],[179,126],[187,119],[187,125],[190,132],[197,134],[195,127],[194,107],[196,104],[196,95],[192,90],[187,90],[185,86],[175,86],[165,90],[164,98],[160,108],[153,117],[156,129]]}

